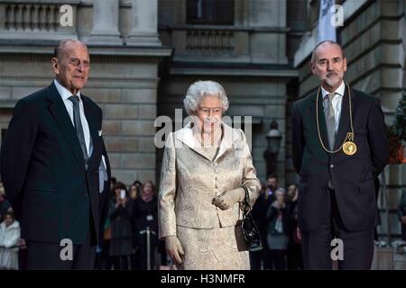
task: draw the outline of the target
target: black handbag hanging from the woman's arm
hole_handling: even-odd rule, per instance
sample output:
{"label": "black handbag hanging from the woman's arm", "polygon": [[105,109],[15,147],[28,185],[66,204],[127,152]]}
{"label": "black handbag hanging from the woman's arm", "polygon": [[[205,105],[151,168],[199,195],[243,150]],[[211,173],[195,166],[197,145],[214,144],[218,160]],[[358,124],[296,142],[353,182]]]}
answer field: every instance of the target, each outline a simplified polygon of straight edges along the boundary
{"label": "black handbag hanging from the woman's arm", "polygon": [[243,185],[245,190],[245,200],[243,202],[243,221],[241,228],[243,230],[243,236],[245,238],[246,245],[250,251],[259,251],[263,249],[261,243],[261,234],[258,227],[255,224],[253,214],[251,213],[250,195],[248,189]]}

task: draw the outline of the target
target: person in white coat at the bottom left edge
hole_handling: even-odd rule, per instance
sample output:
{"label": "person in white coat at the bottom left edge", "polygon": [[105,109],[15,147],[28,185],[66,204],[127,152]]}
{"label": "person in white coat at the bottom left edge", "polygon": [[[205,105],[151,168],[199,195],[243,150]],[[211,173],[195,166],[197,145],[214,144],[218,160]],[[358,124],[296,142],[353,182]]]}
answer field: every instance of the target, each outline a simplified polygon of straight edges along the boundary
{"label": "person in white coat at the bottom left edge", "polygon": [[19,242],[20,224],[14,219],[14,213],[7,211],[0,224],[0,269],[18,269]]}

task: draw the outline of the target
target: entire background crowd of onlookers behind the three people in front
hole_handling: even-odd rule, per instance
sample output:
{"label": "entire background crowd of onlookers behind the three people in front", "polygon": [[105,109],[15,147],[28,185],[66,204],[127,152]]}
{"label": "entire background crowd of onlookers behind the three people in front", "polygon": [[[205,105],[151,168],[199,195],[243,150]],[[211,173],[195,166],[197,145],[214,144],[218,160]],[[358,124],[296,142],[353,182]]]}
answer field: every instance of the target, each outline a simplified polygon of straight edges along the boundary
{"label": "entire background crowd of onlookers behind the three people in front", "polygon": [[[165,244],[158,238],[157,192],[152,181],[143,184],[134,181],[127,188],[113,177],[111,193],[104,242],[97,247],[95,268],[145,270],[170,266]],[[252,270],[303,268],[297,221],[298,193],[296,184],[289,185],[287,190],[280,187],[275,175],[270,175],[266,184],[262,184],[253,214],[263,249],[250,252]],[[401,197],[398,215],[401,238],[406,240],[406,193]],[[20,238],[20,224],[14,218],[1,183],[0,220],[0,269],[24,269],[26,249]]]}

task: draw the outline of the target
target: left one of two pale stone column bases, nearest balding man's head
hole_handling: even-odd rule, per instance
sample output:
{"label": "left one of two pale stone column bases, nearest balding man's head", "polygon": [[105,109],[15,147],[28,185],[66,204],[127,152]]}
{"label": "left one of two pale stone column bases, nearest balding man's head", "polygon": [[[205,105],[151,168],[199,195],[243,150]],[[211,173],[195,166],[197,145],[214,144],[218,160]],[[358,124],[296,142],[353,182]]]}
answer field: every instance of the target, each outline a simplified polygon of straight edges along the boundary
{"label": "left one of two pale stone column bases, nearest balding man's head", "polygon": [[99,45],[122,45],[118,31],[119,0],[93,1],[93,30],[88,42]]}

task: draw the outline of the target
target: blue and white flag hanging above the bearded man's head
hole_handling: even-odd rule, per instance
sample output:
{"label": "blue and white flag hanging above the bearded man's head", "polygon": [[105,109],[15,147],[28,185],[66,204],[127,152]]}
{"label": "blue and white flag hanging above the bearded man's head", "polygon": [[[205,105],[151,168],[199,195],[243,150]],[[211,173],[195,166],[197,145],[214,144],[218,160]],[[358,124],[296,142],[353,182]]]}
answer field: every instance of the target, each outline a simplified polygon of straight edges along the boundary
{"label": "blue and white flag hanging above the bearded man's head", "polygon": [[334,0],[320,1],[318,15],[318,43],[325,40],[337,41]]}

